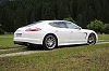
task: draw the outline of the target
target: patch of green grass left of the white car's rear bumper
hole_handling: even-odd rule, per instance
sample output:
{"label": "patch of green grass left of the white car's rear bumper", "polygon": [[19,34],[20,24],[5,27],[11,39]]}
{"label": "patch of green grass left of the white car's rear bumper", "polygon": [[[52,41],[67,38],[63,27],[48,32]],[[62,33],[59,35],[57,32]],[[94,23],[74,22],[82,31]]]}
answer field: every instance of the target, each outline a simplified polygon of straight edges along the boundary
{"label": "patch of green grass left of the white car's rear bumper", "polygon": [[0,36],[0,49],[20,47],[20,45],[13,43],[13,34]]}

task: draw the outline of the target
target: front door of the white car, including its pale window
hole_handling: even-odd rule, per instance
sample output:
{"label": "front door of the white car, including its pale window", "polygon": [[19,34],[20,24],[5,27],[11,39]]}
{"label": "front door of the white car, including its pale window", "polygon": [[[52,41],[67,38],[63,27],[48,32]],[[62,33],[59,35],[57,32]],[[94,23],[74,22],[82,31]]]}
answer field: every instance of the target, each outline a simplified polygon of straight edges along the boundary
{"label": "front door of the white car, including its pale window", "polygon": [[78,26],[72,23],[66,23],[70,30],[70,43],[85,42],[87,33],[82,31]]}

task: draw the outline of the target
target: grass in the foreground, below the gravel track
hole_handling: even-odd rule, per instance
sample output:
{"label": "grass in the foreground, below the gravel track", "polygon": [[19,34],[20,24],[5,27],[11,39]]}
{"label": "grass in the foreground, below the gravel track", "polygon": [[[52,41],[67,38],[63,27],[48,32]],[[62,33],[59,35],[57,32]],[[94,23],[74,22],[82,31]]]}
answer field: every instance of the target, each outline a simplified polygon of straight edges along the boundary
{"label": "grass in the foreground, below the gravel track", "polygon": [[0,71],[109,71],[109,44],[2,57]]}

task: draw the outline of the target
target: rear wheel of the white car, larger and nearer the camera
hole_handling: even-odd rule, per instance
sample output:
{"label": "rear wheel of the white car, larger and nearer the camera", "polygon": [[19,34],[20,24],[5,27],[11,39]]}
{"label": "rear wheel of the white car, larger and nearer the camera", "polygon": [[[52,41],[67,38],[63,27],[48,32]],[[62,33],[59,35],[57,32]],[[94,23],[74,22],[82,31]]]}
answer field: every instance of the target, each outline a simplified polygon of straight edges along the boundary
{"label": "rear wheel of the white car, larger and nearer the camera", "polygon": [[53,49],[57,46],[57,38],[53,34],[47,34],[43,42],[45,49]]}

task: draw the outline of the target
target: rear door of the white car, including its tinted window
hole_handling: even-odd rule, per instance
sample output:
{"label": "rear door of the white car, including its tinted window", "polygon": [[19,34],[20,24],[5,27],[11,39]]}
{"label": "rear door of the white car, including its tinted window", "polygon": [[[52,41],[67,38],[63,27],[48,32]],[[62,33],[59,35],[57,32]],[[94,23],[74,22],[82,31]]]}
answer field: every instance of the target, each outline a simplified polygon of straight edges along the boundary
{"label": "rear door of the white car, including its tinted window", "polygon": [[70,31],[64,22],[53,22],[55,34],[58,38],[59,45],[64,45],[70,42]]}

